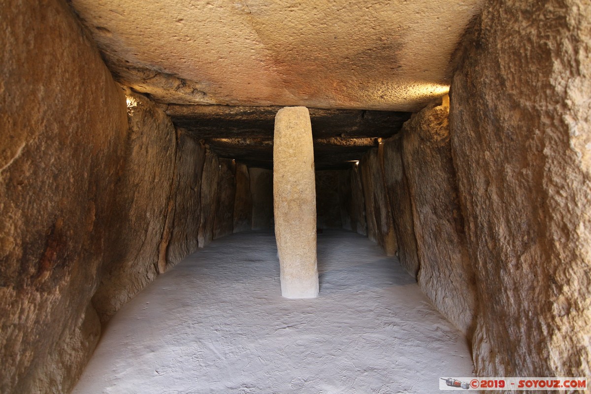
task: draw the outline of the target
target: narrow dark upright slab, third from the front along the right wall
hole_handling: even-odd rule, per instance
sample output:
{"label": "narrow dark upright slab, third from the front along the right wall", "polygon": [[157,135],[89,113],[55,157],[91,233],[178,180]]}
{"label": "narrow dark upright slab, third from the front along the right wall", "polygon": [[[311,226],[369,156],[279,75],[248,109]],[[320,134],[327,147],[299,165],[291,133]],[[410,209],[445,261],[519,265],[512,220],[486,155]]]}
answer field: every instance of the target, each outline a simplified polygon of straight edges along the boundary
{"label": "narrow dark upright slab, third from the front along the right wall", "polygon": [[384,176],[398,240],[398,260],[408,273],[417,278],[419,260],[414,235],[413,204],[402,164],[400,135],[384,142]]}

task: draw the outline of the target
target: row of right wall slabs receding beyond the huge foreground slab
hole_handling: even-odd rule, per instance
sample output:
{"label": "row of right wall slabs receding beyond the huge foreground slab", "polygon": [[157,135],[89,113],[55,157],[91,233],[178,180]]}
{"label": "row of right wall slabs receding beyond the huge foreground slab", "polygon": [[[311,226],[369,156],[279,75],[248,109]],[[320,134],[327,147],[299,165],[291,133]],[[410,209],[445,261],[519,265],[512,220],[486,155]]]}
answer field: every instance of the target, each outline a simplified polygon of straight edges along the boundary
{"label": "row of right wall slabs receding beyond the huge foreground slab", "polygon": [[400,135],[359,162],[368,236],[386,253],[388,248],[390,255],[397,252],[437,309],[471,337],[475,282],[451,155],[449,110],[439,103],[415,113]]}

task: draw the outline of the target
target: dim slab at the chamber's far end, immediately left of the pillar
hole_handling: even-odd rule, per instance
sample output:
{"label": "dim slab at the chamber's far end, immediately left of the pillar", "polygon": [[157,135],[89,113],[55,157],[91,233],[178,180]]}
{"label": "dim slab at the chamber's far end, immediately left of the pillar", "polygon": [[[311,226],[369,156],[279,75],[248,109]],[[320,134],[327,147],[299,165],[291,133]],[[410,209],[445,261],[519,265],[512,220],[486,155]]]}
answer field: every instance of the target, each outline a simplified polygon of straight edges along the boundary
{"label": "dim slab at the chamber's far end, immediately left of the pillar", "polygon": [[252,196],[252,229],[273,228],[273,171],[249,168]]}

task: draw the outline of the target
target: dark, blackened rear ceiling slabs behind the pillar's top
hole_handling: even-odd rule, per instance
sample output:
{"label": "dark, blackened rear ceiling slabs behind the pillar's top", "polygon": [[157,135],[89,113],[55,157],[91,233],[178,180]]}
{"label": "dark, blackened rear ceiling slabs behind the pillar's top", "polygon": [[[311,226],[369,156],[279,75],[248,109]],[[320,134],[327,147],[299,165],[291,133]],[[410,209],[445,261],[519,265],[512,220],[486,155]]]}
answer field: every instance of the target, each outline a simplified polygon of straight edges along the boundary
{"label": "dark, blackened rear ceiling slabs behind the pillar's top", "polygon": [[[219,157],[271,168],[275,115],[282,107],[169,105],[177,128],[203,139]],[[349,168],[369,148],[398,133],[408,112],[310,108],[317,169]]]}

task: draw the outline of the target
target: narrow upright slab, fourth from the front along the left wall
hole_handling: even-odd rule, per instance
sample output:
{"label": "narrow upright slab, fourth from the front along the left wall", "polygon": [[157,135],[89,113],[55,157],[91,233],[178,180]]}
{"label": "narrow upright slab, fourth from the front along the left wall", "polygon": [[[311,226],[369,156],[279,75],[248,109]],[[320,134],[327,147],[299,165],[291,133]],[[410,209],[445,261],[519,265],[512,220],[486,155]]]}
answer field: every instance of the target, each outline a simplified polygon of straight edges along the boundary
{"label": "narrow upright slab, fourth from the front along the left wall", "polygon": [[213,222],[217,210],[217,180],[220,174],[219,159],[209,149],[205,152],[205,163],[201,178],[201,218],[197,240],[203,248],[213,239]]}

